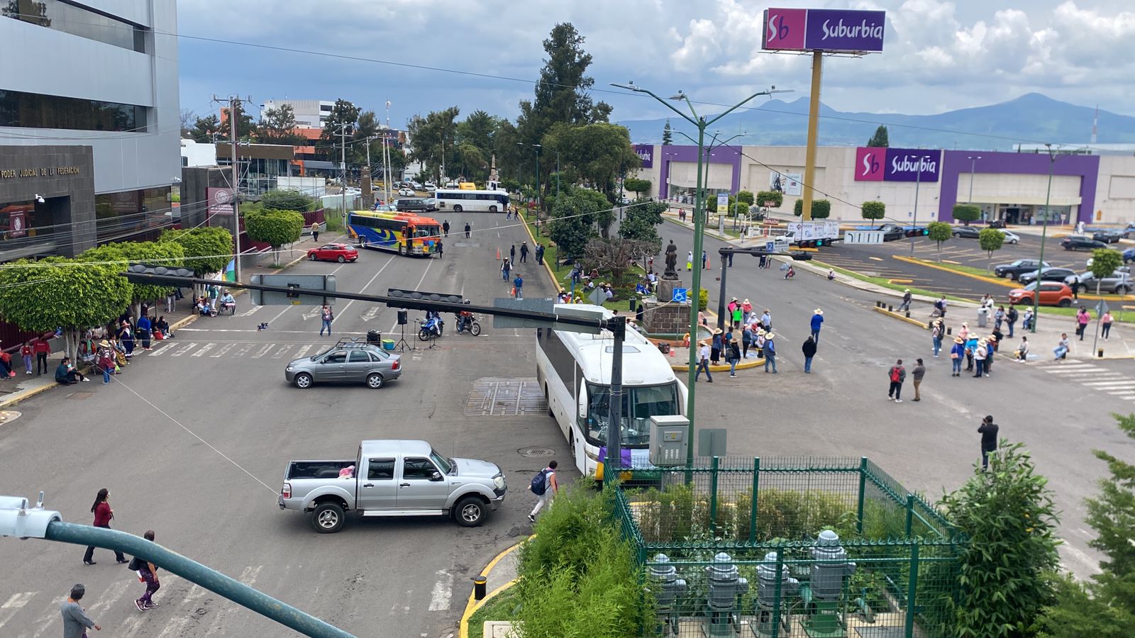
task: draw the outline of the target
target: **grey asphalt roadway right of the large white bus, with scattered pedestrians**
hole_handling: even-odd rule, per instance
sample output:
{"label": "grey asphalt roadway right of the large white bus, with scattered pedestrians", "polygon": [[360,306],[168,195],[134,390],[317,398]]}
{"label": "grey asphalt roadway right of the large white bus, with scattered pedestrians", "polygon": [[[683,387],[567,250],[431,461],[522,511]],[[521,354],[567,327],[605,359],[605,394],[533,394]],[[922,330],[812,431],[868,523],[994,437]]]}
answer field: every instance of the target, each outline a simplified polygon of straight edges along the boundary
{"label": "grey asphalt roadway right of the large white bus, with scattered pedestrians", "polygon": [[[664,244],[674,240],[679,254],[692,246],[687,227],[667,223],[659,230]],[[705,243],[711,254],[725,245],[712,237]],[[755,258],[734,257],[726,295],[772,311],[780,373],[755,370],[698,383],[698,427],[728,428],[730,454],[868,456],[908,489],[935,501],[970,475],[980,461],[977,426],[993,414],[1001,436],[1025,443],[1050,479],[1062,511],[1065,565],[1081,576],[1095,569],[1099,556],[1087,547],[1092,534],[1083,522],[1083,500],[1096,494],[1095,481],[1105,472],[1092,450],[1132,451],[1110,417],[1135,410],[1129,362],[1065,368],[999,359],[989,378],[951,377],[948,355],[932,358],[928,333],[871,310],[875,295],[804,270],[784,280],[775,267],[756,265]],[[720,275],[715,269],[704,277],[711,309],[717,308]],[[690,284],[689,272],[680,277]],[[825,321],[813,373],[805,375],[800,345],[816,308]],[[926,362],[922,402],[910,401],[909,377],[903,402],[888,401],[886,370],[902,359],[909,372],[918,356]]]}

